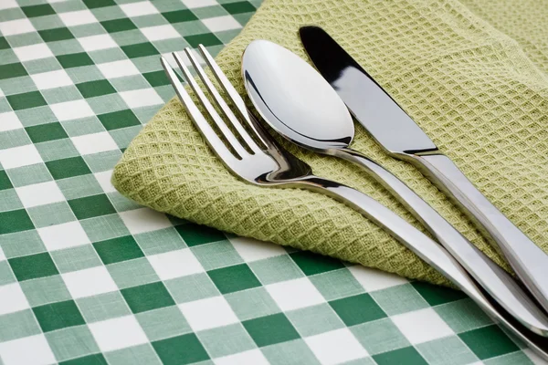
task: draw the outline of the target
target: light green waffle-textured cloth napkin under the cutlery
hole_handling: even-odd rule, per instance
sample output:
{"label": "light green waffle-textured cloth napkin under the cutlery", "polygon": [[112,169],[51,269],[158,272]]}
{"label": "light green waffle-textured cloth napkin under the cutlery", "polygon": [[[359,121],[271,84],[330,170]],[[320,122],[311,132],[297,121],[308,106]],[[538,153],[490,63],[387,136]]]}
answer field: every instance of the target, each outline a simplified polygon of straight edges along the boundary
{"label": "light green waffle-textured cloth napkin under the cutlery", "polygon": [[[266,0],[216,61],[244,95],[240,57],[249,42],[269,39],[308,59],[298,29],[322,26],[491,202],[548,251],[546,24],[544,0]],[[350,163],[285,145],[317,175],[370,194],[420,227]],[[361,126],[353,148],[394,172],[507,268],[442,193],[406,162],[387,157]],[[112,183],[137,203],[198,224],[447,284],[342,203],[319,193],[238,181],[208,149],[177,99],[132,141]]]}

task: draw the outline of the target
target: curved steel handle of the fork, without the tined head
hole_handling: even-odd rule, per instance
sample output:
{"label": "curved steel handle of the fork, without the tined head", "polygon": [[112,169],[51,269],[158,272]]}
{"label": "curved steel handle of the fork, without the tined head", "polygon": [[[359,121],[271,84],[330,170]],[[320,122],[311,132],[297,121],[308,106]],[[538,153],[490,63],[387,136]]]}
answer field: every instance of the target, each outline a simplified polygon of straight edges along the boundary
{"label": "curved steel handle of the fork, without the tined head", "polygon": [[304,181],[296,182],[295,185],[329,195],[384,227],[397,241],[406,245],[407,248],[415,252],[416,255],[436,268],[437,271],[465,292],[490,318],[500,323],[512,335],[522,339],[543,360],[548,360],[548,338],[533,333],[522,326],[519,321],[506,312],[504,308],[499,307],[489,295],[486,296],[477,287],[466,270],[458,264],[445,248],[437,245],[435,241],[386,208],[385,205],[351,187],[317,176],[309,176]]}

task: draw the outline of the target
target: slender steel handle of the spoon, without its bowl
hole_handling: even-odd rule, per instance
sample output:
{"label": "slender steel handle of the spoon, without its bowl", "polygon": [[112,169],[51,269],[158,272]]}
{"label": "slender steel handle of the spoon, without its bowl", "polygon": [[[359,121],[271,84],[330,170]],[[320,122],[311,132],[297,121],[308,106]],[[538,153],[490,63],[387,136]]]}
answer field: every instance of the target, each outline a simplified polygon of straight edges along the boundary
{"label": "slender steel handle of the spoon, without its bowl", "polygon": [[519,320],[523,326],[539,335],[548,337],[548,318],[513,277],[471,244],[406,183],[358,151],[342,149],[337,150],[335,155],[363,167],[427,227],[427,230],[437,238],[437,241],[457,259],[460,265],[468,270],[469,274],[502,308]]}

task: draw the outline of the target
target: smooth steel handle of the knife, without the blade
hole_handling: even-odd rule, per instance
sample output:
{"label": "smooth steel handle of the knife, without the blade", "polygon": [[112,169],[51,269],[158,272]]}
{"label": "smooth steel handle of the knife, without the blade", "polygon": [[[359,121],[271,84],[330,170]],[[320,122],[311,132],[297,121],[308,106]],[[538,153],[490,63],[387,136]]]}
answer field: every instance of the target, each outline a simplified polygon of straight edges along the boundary
{"label": "smooth steel handle of the knife, without the blade", "polygon": [[548,255],[523,234],[444,154],[408,155],[432,183],[452,197],[482,233],[496,243],[516,275],[548,310]]}

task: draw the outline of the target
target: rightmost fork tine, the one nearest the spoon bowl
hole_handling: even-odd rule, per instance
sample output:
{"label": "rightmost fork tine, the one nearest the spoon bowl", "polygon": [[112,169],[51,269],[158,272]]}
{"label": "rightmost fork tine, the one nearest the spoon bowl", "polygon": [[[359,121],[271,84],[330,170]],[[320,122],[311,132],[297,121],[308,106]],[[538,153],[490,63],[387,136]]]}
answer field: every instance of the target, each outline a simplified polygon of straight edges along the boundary
{"label": "rightmost fork tine, the one nearest the spoon bowl", "polygon": [[203,45],[199,45],[198,48],[200,49],[200,53],[204,57],[207,66],[211,68],[213,74],[215,75],[216,80],[219,84],[221,84],[221,87],[225,90],[228,97],[236,106],[240,117],[246,120],[246,123],[248,123],[248,127],[255,132],[255,135],[257,136],[258,140],[262,142],[263,146],[265,148],[269,148],[272,143],[269,141],[270,138],[267,132],[261,128],[261,126],[258,124],[258,121],[255,120],[255,117],[253,117],[253,115],[248,111],[248,107],[246,107],[244,99],[242,99],[237,90],[234,89],[234,86],[232,86],[232,84],[228,80],[227,75],[225,75],[223,70],[219,68],[219,66],[216,64],[215,59],[211,57],[211,55],[209,54],[209,52],[207,52],[207,49],[205,49]]}

